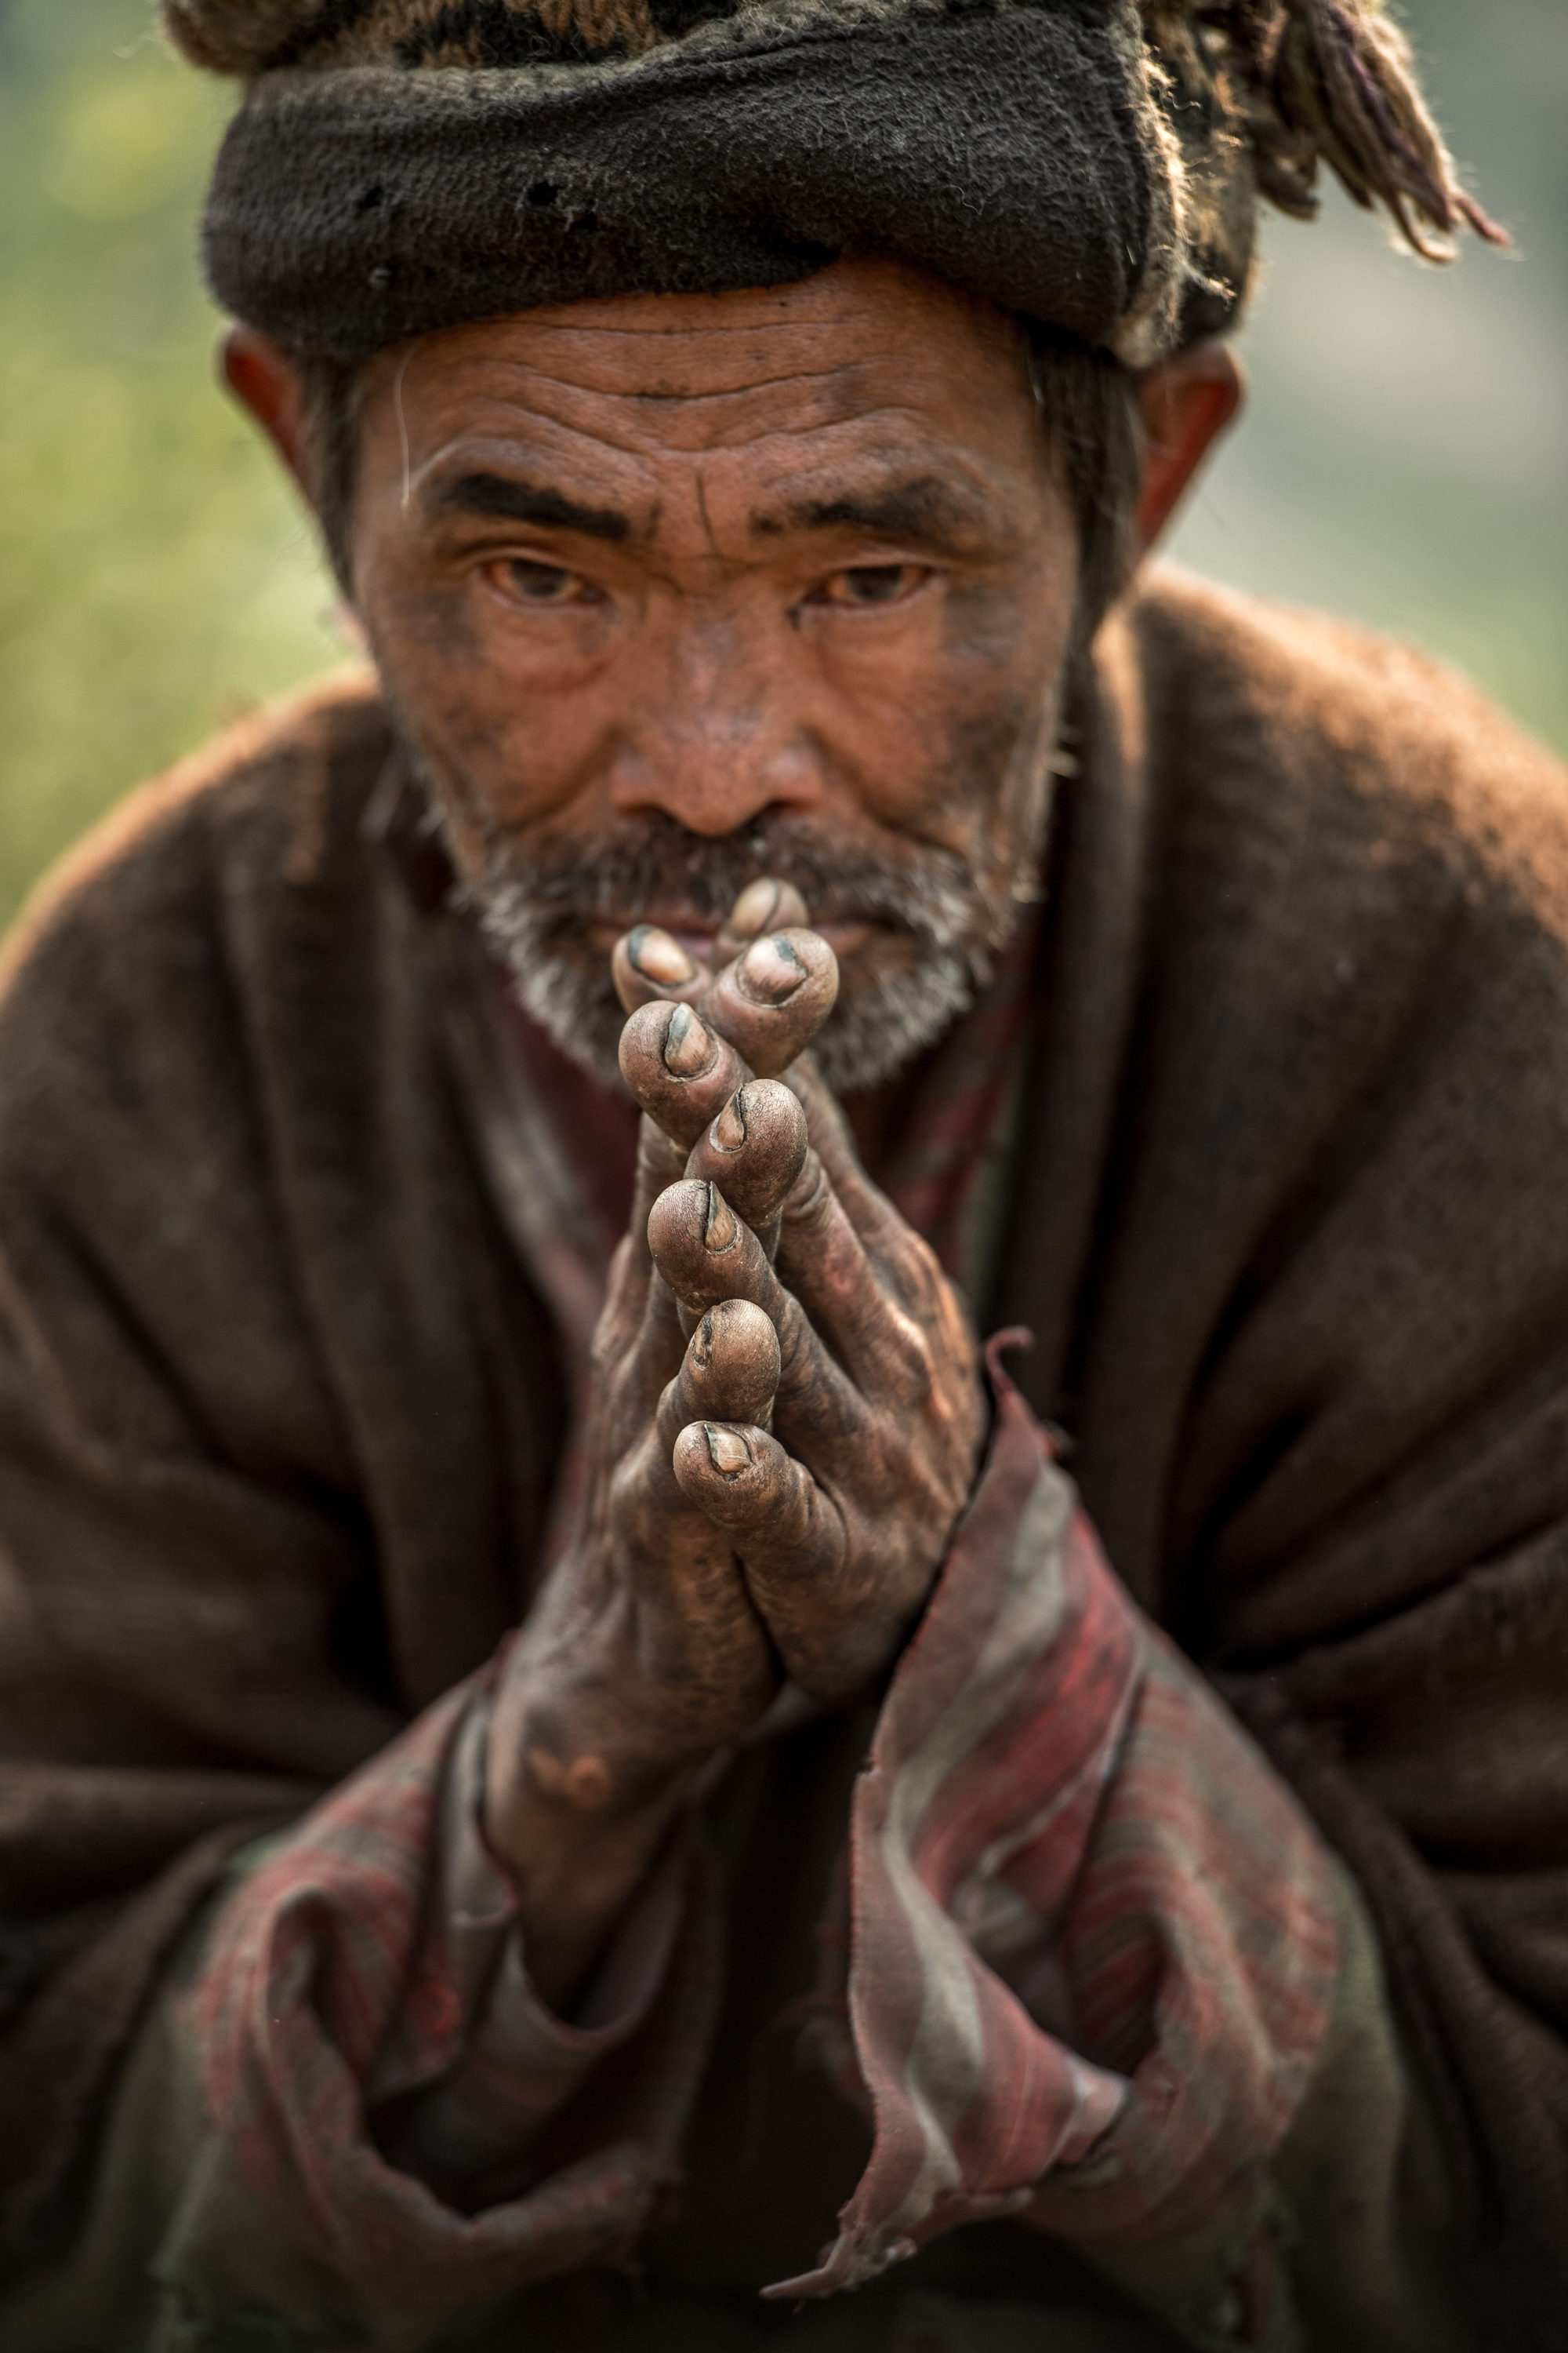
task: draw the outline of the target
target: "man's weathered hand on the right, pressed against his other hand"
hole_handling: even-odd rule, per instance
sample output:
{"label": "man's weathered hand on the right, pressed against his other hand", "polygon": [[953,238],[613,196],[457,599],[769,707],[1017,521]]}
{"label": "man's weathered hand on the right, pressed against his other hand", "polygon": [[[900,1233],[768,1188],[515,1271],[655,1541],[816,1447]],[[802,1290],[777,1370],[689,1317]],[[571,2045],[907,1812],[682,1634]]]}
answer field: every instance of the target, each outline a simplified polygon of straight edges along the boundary
{"label": "man's weathered hand on the right, pressed against his other hand", "polygon": [[[621,1464],[616,1494],[639,1522],[649,1508],[672,1515],[672,1478],[733,1548],[783,1673],[835,1701],[886,1666],[926,1600],[985,1417],[952,1285],[867,1181],[837,1104],[799,1059],[832,1009],[837,969],[825,941],[780,915],[804,918],[795,892],[752,885],[717,969],[696,993],[675,991],[675,1005],[649,995],[661,934],[623,941],[616,958],[639,1007],[621,1066],[646,1113],[646,1184],[675,1176],[686,1151],[684,1176],[649,1205],[628,1374],[644,1362],[649,1381],[668,1362],[668,1301],[691,1334],[661,1391],[654,1445]],[[790,1073],[788,1089],[771,1073]],[[637,1257],[635,1233],[625,1257]],[[602,1348],[616,1379],[609,1353],[621,1358],[625,1329],[614,1313]],[[705,1553],[710,1539],[689,1529],[686,1541]],[[715,1572],[705,1598],[712,1621],[691,1624],[691,1647],[712,1642],[717,1664],[733,1657],[733,1588]]]}

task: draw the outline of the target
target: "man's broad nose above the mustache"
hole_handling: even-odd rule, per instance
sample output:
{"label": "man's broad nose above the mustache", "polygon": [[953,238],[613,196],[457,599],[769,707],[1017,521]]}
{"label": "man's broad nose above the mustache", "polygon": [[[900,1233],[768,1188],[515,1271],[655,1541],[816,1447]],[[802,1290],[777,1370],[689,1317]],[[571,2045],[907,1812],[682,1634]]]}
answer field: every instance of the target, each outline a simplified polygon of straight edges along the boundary
{"label": "man's broad nose above the mustache", "polygon": [[625,680],[609,779],[621,814],[663,809],[689,833],[736,833],[764,809],[813,809],[823,776],[788,624],[703,609],[668,616]]}

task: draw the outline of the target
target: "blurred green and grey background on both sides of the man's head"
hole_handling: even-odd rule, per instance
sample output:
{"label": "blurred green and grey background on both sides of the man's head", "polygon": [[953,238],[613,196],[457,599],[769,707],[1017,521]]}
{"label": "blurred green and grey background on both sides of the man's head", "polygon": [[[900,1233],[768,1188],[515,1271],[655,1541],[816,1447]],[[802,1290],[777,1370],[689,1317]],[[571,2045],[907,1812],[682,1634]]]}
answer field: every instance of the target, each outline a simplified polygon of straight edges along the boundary
{"label": "blurred green and grey background on both sides of the man's head", "polygon": [[[1338,195],[1269,219],[1253,405],[1175,553],[1418,635],[1568,748],[1568,5],[1406,21],[1519,256],[1418,268]],[[148,0],[0,0],[0,922],[129,784],[343,654],[212,381],[228,104]]]}

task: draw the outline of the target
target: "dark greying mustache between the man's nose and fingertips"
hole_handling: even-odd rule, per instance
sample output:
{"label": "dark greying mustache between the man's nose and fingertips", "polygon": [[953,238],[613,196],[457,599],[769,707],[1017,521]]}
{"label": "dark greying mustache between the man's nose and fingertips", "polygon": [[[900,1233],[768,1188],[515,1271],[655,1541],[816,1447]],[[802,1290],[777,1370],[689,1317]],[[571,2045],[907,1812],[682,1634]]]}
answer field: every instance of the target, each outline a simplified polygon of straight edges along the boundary
{"label": "dark greying mustache between the man's nose and fingertips", "polygon": [[649,908],[677,908],[717,927],[759,875],[792,882],[813,922],[891,922],[933,948],[980,946],[973,934],[985,892],[969,859],[917,842],[872,854],[776,816],[755,819],[743,833],[701,835],[656,809],[592,849],[541,845],[522,852],[510,838],[491,835],[477,894],[482,901],[498,892],[527,894],[548,932],[583,920],[632,925]]}

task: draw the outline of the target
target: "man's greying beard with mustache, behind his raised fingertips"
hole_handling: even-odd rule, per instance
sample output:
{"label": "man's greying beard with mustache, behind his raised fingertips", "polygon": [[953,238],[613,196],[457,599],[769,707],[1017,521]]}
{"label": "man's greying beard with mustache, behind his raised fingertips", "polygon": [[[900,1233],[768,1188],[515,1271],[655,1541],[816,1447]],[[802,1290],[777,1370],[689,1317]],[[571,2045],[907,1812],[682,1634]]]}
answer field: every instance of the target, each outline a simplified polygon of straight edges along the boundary
{"label": "man's greying beard with mustache, behind his raised fingertips", "polygon": [[[421,774],[442,814],[440,786]],[[447,840],[461,871],[451,828]],[[748,882],[776,875],[799,889],[813,922],[891,927],[903,934],[905,953],[886,960],[884,951],[879,969],[872,951],[867,972],[851,967],[813,1045],[827,1085],[851,1094],[891,1078],[973,1005],[1020,908],[1034,899],[1037,847],[1020,845],[1016,859],[997,859],[983,875],[966,859],[922,845],[872,859],[788,816],[759,816],[743,833],[710,840],[656,812],[618,826],[595,852],[524,856],[491,831],[482,871],[463,875],[463,887],[524,1012],[607,1085],[621,1082],[625,1014],[609,958],[588,946],[590,922],[630,929],[649,906],[679,906],[717,927]]]}

